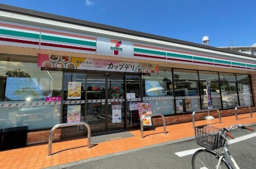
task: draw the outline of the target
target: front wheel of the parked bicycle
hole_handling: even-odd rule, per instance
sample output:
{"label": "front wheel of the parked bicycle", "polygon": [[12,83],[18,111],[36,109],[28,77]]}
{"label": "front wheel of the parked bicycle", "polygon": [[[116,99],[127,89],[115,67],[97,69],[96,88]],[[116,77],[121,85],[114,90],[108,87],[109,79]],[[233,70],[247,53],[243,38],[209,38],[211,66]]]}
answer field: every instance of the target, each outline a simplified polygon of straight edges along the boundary
{"label": "front wheel of the parked bicycle", "polygon": [[[197,150],[192,157],[193,169],[216,169],[218,164],[218,157],[216,153],[209,150]],[[229,169],[227,164],[221,160],[220,169]]]}

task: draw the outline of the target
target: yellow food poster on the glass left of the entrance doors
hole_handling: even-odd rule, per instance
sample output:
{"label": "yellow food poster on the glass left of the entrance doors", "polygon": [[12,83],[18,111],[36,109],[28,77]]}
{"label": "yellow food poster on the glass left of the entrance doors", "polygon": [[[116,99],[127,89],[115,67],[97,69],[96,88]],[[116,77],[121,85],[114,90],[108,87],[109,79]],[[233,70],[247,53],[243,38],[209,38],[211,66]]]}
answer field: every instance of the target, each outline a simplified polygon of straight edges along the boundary
{"label": "yellow food poster on the glass left of the entrance doors", "polygon": [[68,99],[81,99],[81,82],[68,82]]}

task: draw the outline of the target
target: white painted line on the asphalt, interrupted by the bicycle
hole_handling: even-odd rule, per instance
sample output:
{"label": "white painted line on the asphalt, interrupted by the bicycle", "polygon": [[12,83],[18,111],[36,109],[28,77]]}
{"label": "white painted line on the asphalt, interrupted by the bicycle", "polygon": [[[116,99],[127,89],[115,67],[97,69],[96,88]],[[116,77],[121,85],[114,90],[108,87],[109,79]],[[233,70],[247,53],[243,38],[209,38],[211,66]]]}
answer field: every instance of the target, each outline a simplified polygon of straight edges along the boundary
{"label": "white painted line on the asphalt, interrupted by the bicycle", "polygon": [[[256,136],[256,133],[251,133],[251,134],[247,134],[247,135],[242,136],[242,137],[237,137],[233,140],[229,140],[229,144],[237,143],[239,141],[244,141],[248,138],[252,138],[252,137],[255,137],[255,136]],[[177,153],[174,153],[174,154],[178,155],[179,157],[183,157],[183,156],[186,156],[186,155],[194,154],[197,150],[200,150],[200,149],[202,149],[202,148],[195,148],[195,149],[191,149],[191,150],[180,151],[180,152],[177,152]]]}

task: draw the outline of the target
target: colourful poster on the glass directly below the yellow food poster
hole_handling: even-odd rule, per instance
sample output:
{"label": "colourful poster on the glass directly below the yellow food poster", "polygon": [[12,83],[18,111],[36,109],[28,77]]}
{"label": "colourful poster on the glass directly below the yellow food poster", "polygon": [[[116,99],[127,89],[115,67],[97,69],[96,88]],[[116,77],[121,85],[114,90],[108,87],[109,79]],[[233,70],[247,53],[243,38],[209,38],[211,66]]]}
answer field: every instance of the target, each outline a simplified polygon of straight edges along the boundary
{"label": "colourful poster on the glass directly below the yellow food poster", "polygon": [[80,122],[81,105],[68,106],[67,123]]}

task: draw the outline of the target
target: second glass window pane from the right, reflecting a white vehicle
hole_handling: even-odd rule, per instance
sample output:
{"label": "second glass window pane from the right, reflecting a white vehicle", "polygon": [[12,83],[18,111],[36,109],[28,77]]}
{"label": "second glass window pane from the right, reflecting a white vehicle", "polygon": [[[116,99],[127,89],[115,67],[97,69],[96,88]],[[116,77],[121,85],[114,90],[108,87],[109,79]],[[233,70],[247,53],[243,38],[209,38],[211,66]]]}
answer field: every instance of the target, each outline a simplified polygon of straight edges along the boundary
{"label": "second glass window pane from the right, reflecting a white vehicle", "polygon": [[235,82],[221,82],[221,97],[223,108],[235,108],[238,105]]}

